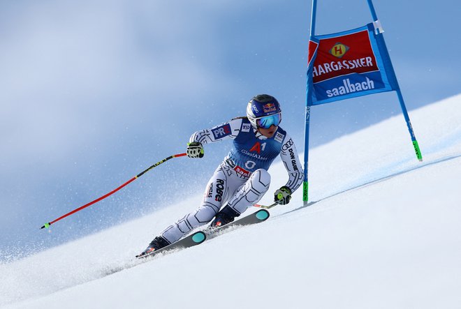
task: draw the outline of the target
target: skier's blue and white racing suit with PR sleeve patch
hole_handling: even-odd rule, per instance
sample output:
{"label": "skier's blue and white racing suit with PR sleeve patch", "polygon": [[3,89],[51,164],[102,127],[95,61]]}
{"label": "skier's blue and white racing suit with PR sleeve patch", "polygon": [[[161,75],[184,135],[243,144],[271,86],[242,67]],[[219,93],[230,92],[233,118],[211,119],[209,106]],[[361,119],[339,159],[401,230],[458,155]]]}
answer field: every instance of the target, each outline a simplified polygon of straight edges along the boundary
{"label": "skier's blue and white racing suit with PR sleeve patch", "polygon": [[161,236],[170,243],[209,223],[225,204],[243,213],[257,203],[269,189],[268,169],[277,156],[288,172],[285,186],[293,193],[301,185],[303,172],[298,153],[282,128],[268,138],[255,130],[246,117],[240,117],[193,133],[190,142],[208,144],[226,139],[233,140],[232,149],[208,181],[203,203],[162,232]]}

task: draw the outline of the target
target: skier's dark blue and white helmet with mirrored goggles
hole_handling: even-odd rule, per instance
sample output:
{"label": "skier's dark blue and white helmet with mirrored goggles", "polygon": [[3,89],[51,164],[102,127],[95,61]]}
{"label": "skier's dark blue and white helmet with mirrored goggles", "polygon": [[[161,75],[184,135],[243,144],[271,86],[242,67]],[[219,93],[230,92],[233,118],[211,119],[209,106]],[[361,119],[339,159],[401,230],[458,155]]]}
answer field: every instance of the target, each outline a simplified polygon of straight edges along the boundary
{"label": "skier's dark blue and white helmet with mirrored goggles", "polygon": [[255,129],[279,126],[281,121],[279,101],[268,94],[258,94],[247,105],[247,117]]}

